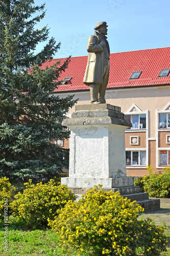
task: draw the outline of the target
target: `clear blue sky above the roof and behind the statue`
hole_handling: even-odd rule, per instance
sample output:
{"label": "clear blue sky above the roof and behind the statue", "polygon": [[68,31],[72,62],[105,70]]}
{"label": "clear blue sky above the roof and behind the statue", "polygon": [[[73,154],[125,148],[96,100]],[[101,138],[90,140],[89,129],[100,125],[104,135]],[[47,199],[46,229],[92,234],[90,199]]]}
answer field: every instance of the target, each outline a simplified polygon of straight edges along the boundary
{"label": "clear blue sky above the roof and behind the statue", "polygon": [[42,3],[46,15],[38,27],[47,25],[49,36],[61,42],[56,58],[87,55],[88,36],[103,21],[111,53],[170,46],[169,0],[35,0]]}

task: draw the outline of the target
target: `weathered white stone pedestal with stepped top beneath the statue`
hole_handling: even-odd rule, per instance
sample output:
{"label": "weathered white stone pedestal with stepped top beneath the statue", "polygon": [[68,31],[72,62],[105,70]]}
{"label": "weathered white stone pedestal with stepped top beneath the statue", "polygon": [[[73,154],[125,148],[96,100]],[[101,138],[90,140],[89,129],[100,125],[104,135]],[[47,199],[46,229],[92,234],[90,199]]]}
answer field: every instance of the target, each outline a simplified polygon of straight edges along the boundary
{"label": "weathered white stone pedestal with stepped top beneath the statue", "polygon": [[78,198],[98,184],[127,197],[130,193],[133,200],[133,193],[138,193],[138,198],[146,194],[139,193],[133,177],[126,175],[125,130],[132,124],[118,106],[77,105],[62,125],[70,129],[70,155],[69,177],[61,178],[61,183],[76,194],[79,191]]}

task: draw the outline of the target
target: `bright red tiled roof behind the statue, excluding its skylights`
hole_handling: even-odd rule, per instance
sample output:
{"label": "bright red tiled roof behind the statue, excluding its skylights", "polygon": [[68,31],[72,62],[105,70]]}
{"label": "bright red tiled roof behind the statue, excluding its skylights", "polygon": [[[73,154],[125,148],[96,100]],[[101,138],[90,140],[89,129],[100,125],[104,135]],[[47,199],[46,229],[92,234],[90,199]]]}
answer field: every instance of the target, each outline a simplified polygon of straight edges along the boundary
{"label": "bright red tiled roof behind the statue, excluding its skylights", "polygon": [[[53,65],[59,59],[43,63],[42,68]],[[61,58],[61,65],[65,58]],[[83,83],[87,65],[87,56],[71,57],[68,68],[62,72],[60,80],[72,77],[66,85],[61,85],[55,92],[82,91],[89,87]],[[168,77],[158,77],[162,69],[170,69],[170,47],[120,52],[110,54],[110,75],[107,88],[144,87],[170,84]],[[132,73],[142,71],[138,79],[129,80]]]}

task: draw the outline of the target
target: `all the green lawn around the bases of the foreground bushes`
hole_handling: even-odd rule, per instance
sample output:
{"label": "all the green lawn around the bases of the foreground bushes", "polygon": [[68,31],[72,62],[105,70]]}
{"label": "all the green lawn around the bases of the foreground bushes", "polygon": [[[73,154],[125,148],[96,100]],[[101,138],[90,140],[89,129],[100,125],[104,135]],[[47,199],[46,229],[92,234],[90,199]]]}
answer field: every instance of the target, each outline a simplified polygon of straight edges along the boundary
{"label": "all the green lawn around the bases of the foreground bushes", "polygon": [[[162,256],[170,255],[170,227],[165,229],[168,238],[167,251]],[[4,223],[0,223],[0,255],[1,256],[78,256],[71,247],[59,246],[59,238],[51,229],[28,229],[24,222],[10,217],[8,226],[8,252],[4,251]],[[137,255],[142,255],[140,248]],[[88,256],[88,251],[80,256]]]}

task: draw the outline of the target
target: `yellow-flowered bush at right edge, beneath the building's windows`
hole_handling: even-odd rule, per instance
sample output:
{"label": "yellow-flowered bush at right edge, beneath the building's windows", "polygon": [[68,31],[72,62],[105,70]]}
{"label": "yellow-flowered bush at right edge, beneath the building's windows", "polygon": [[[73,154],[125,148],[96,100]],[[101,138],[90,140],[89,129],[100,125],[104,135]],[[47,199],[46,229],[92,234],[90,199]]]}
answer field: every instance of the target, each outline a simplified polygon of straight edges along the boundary
{"label": "yellow-flowered bush at right edge, beneath the building's windows", "polygon": [[151,165],[147,169],[150,175],[135,180],[135,185],[148,192],[150,197],[170,198],[170,167],[165,167],[162,172],[156,174],[153,173]]}

